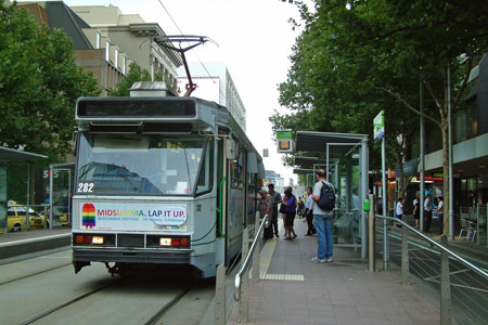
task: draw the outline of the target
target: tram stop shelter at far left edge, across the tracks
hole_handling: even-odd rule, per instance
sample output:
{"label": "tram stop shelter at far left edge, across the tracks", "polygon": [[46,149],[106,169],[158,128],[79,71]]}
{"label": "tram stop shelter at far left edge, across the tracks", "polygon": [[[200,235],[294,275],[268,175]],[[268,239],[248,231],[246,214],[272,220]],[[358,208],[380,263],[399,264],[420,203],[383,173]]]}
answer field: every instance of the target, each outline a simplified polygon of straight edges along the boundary
{"label": "tram stop shelter at far left edge, across the tracks", "polygon": [[[30,161],[38,159],[47,159],[47,156],[28,153],[24,151],[13,150],[4,146],[0,146],[0,230],[7,233],[7,209],[9,200],[8,188],[8,166],[10,162],[27,161],[27,168],[30,170]],[[30,172],[27,172],[27,203],[29,200],[29,184]]]}

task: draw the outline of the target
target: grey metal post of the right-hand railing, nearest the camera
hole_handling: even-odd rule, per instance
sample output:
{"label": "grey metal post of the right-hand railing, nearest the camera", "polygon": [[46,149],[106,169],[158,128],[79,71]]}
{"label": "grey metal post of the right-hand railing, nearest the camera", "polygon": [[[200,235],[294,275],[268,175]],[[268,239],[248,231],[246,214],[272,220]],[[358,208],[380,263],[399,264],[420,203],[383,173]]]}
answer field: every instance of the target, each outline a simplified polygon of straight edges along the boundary
{"label": "grey metal post of the right-hand railing, nearest the camera", "polygon": [[[440,244],[447,247],[447,236],[440,237]],[[440,250],[440,325],[451,325],[451,286],[449,280],[449,255]]]}

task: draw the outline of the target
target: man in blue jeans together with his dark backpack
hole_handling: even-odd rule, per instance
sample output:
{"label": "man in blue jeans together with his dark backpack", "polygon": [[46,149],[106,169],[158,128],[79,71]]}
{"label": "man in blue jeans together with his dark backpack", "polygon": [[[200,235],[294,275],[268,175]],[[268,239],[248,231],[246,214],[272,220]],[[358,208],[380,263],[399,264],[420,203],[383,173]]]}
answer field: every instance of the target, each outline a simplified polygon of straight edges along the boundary
{"label": "man in blue jeans together with his dark backpack", "polygon": [[332,210],[335,207],[334,186],[326,181],[323,169],[317,172],[317,183],[313,186],[313,223],[317,230],[319,247],[313,262],[332,262],[333,238],[332,238]]}

